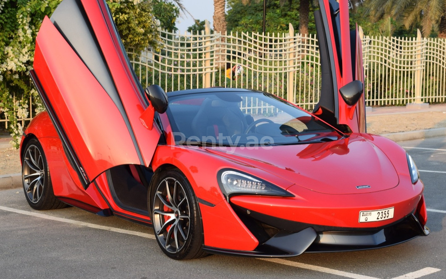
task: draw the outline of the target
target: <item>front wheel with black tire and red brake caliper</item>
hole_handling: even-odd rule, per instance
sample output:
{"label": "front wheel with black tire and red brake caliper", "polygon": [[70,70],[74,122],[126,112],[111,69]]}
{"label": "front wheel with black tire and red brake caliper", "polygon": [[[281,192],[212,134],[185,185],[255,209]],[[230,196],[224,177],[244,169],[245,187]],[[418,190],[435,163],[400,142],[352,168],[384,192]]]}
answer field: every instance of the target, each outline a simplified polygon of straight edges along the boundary
{"label": "front wheel with black tire and red brake caliper", "polygon": [[206,256],[200,209],[189,181],[178,170],[159,177],[148,193],[158,245],[177,260]]}

